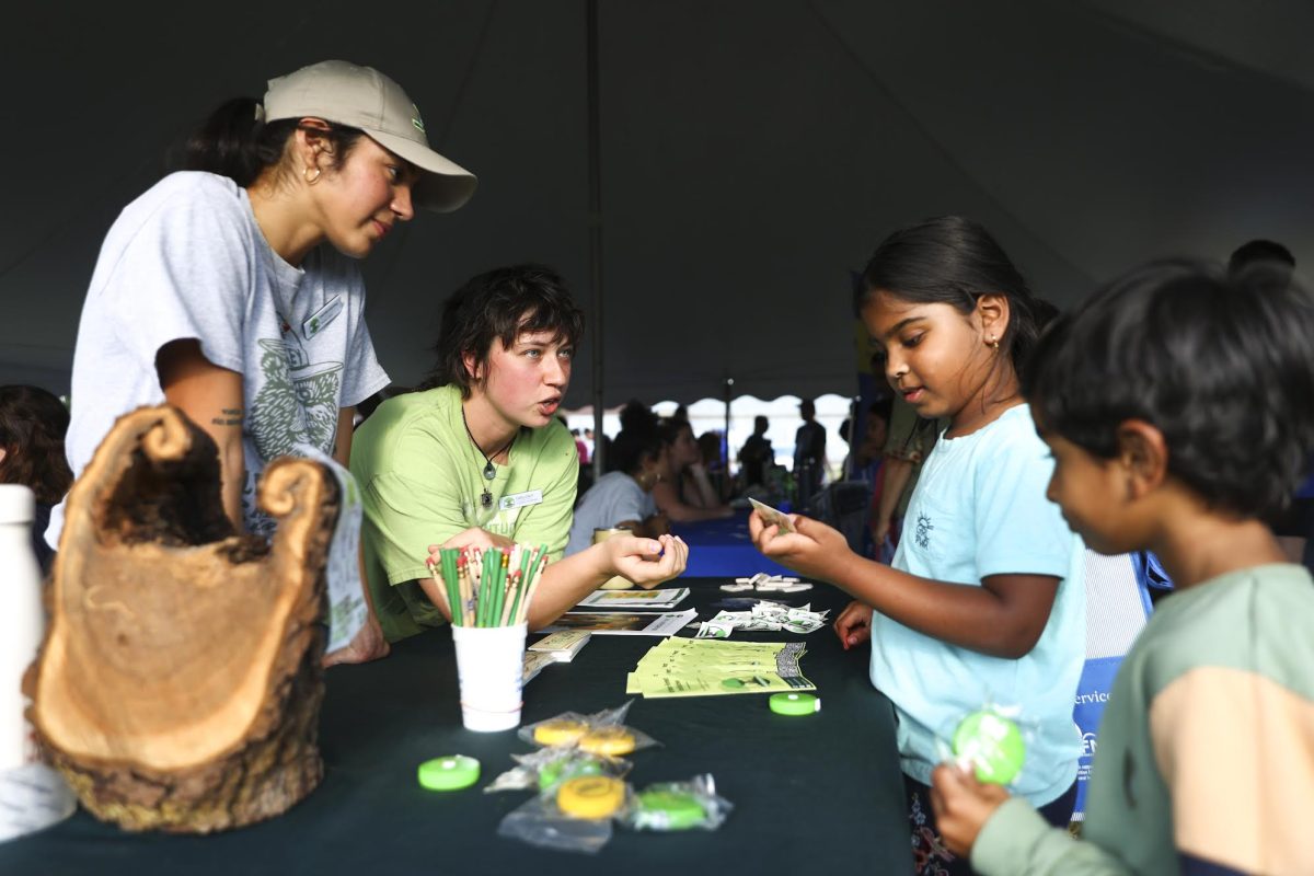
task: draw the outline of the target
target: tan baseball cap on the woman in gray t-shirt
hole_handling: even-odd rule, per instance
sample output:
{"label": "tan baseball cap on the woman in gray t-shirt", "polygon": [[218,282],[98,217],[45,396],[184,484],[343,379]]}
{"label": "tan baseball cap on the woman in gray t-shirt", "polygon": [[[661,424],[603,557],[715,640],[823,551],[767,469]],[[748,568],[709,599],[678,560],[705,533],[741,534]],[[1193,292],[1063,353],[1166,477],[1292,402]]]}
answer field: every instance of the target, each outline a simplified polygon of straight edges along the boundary
{"label": "tan baseball cap on the woman in gray t-shirt", "polygon": [[451,213],[474,194],[474,175],[428,147],[419,109],[401,85],[373,67],[322,60],[269,80],[265,121],[307,116],[359,127],[423,171],[413,194],[417,206]]}

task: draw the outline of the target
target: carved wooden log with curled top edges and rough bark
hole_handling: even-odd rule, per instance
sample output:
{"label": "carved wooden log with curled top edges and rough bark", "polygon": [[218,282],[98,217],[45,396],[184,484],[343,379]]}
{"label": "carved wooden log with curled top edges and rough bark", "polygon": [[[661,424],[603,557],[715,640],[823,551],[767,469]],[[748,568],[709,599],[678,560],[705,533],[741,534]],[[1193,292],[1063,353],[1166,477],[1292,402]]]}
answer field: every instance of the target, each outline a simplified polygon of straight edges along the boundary
{"label": "carved wooden log with curled top edges and rough bark", "polygon": [[272,464],[271,545],[235,536],[214,443],[176,410],[122,416],[74,485],[24,687],[37,737],[96,817],[209,833],[319,783],[325,561],[338,486]]}

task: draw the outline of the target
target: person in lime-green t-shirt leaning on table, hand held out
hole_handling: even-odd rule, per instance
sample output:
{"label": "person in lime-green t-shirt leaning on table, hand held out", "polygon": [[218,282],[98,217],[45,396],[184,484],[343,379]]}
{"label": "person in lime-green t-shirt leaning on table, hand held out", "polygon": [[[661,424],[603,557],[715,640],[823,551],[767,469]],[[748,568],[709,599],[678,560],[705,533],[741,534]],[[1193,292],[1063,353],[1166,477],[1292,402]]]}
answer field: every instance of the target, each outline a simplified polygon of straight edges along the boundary
{"label": "person in lime-green t-shirt leaning on table, hand held out", "polygon": [[443,309],[427,389],[356,432],[351,469],[365,510],[365,575],[396,641],[447,620],[426,561],[442,548],[547,545],[530,626],[549,624],[614,575],[645,587],[685,570],[679,538],[611,538],[561,558],[579,454],[556,419],[583,314],[540,265],[480,274]]}

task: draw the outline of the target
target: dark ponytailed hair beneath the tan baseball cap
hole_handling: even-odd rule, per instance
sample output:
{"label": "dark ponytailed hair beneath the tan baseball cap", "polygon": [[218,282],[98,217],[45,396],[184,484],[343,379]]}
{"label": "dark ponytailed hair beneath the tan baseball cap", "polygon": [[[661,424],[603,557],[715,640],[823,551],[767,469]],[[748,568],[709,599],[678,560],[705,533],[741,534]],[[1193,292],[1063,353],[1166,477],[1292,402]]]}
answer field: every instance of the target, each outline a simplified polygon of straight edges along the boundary
{"label": "dark ponytailed hair beneath the tan baseball cap", "polygon": [[187,142],[181,154],[172,162],[175,171],[208,171],[227,176],[246,188],[259,179],[267,167],[283,162],[288,139],[304,127],[322,137],[332,156],[330,168],[336,171],[347,160],[347,155],[364,137],[364,131],[346,125],[326,122],[327,130],[302,126],[300,120],[280,118],[264,122],[258,118],[260,101],[254,97],[234,97],[225,101],[210,113]]}

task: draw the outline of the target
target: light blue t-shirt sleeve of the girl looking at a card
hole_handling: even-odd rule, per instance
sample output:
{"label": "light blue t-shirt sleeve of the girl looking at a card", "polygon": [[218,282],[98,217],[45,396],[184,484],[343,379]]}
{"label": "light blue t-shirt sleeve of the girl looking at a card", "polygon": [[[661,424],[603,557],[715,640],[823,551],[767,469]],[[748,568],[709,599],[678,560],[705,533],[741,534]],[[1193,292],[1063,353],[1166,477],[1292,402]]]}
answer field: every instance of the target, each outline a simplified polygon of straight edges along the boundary
{"label": "light blue t-shirt sleeve of the girl looking at a card", "polygon": [[1054,460],[1031,424],[1018,418],[976,466],[976,567],[988,575],[1066,578],[1074,538],[1059,507],[1045,498]]}

